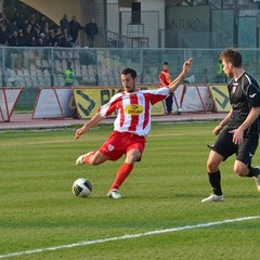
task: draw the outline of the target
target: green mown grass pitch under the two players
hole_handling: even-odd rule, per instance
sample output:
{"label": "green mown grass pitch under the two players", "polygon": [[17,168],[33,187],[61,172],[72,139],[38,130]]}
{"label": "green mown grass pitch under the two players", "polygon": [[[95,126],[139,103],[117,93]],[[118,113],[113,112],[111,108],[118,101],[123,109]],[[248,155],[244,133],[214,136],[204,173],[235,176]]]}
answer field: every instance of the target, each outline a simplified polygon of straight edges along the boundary
{"label": "green mown grass pitch under the two players", "polygon": [[[258,259],[260,193],[252,179],[233,173],[234,157],[221,166],[225,202],[200,203],[211,192],[206,161],[214,125],[153,123],[118,200],[106,193],[123,158],[75,166],[112,126],[100,125],[78,141],[76,128],[0,132],[0,258]],[[88,198],[72,192],[80,177],[93,185]],[[251,216],[258,218],[221,222]]]}

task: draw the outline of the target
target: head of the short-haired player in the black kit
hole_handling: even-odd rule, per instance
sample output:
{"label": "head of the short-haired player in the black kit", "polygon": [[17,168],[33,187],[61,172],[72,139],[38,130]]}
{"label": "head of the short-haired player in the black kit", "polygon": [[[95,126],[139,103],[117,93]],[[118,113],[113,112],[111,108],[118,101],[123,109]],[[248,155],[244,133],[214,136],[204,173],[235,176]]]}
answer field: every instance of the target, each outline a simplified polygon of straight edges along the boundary
{"label": "head of the short-haired player in the black kit", "polygon": [[223,64],[223,72],[230,78],[234,77],[234,68],[242,68],[242,54],[233,48],[222,51],[220,60]]}

